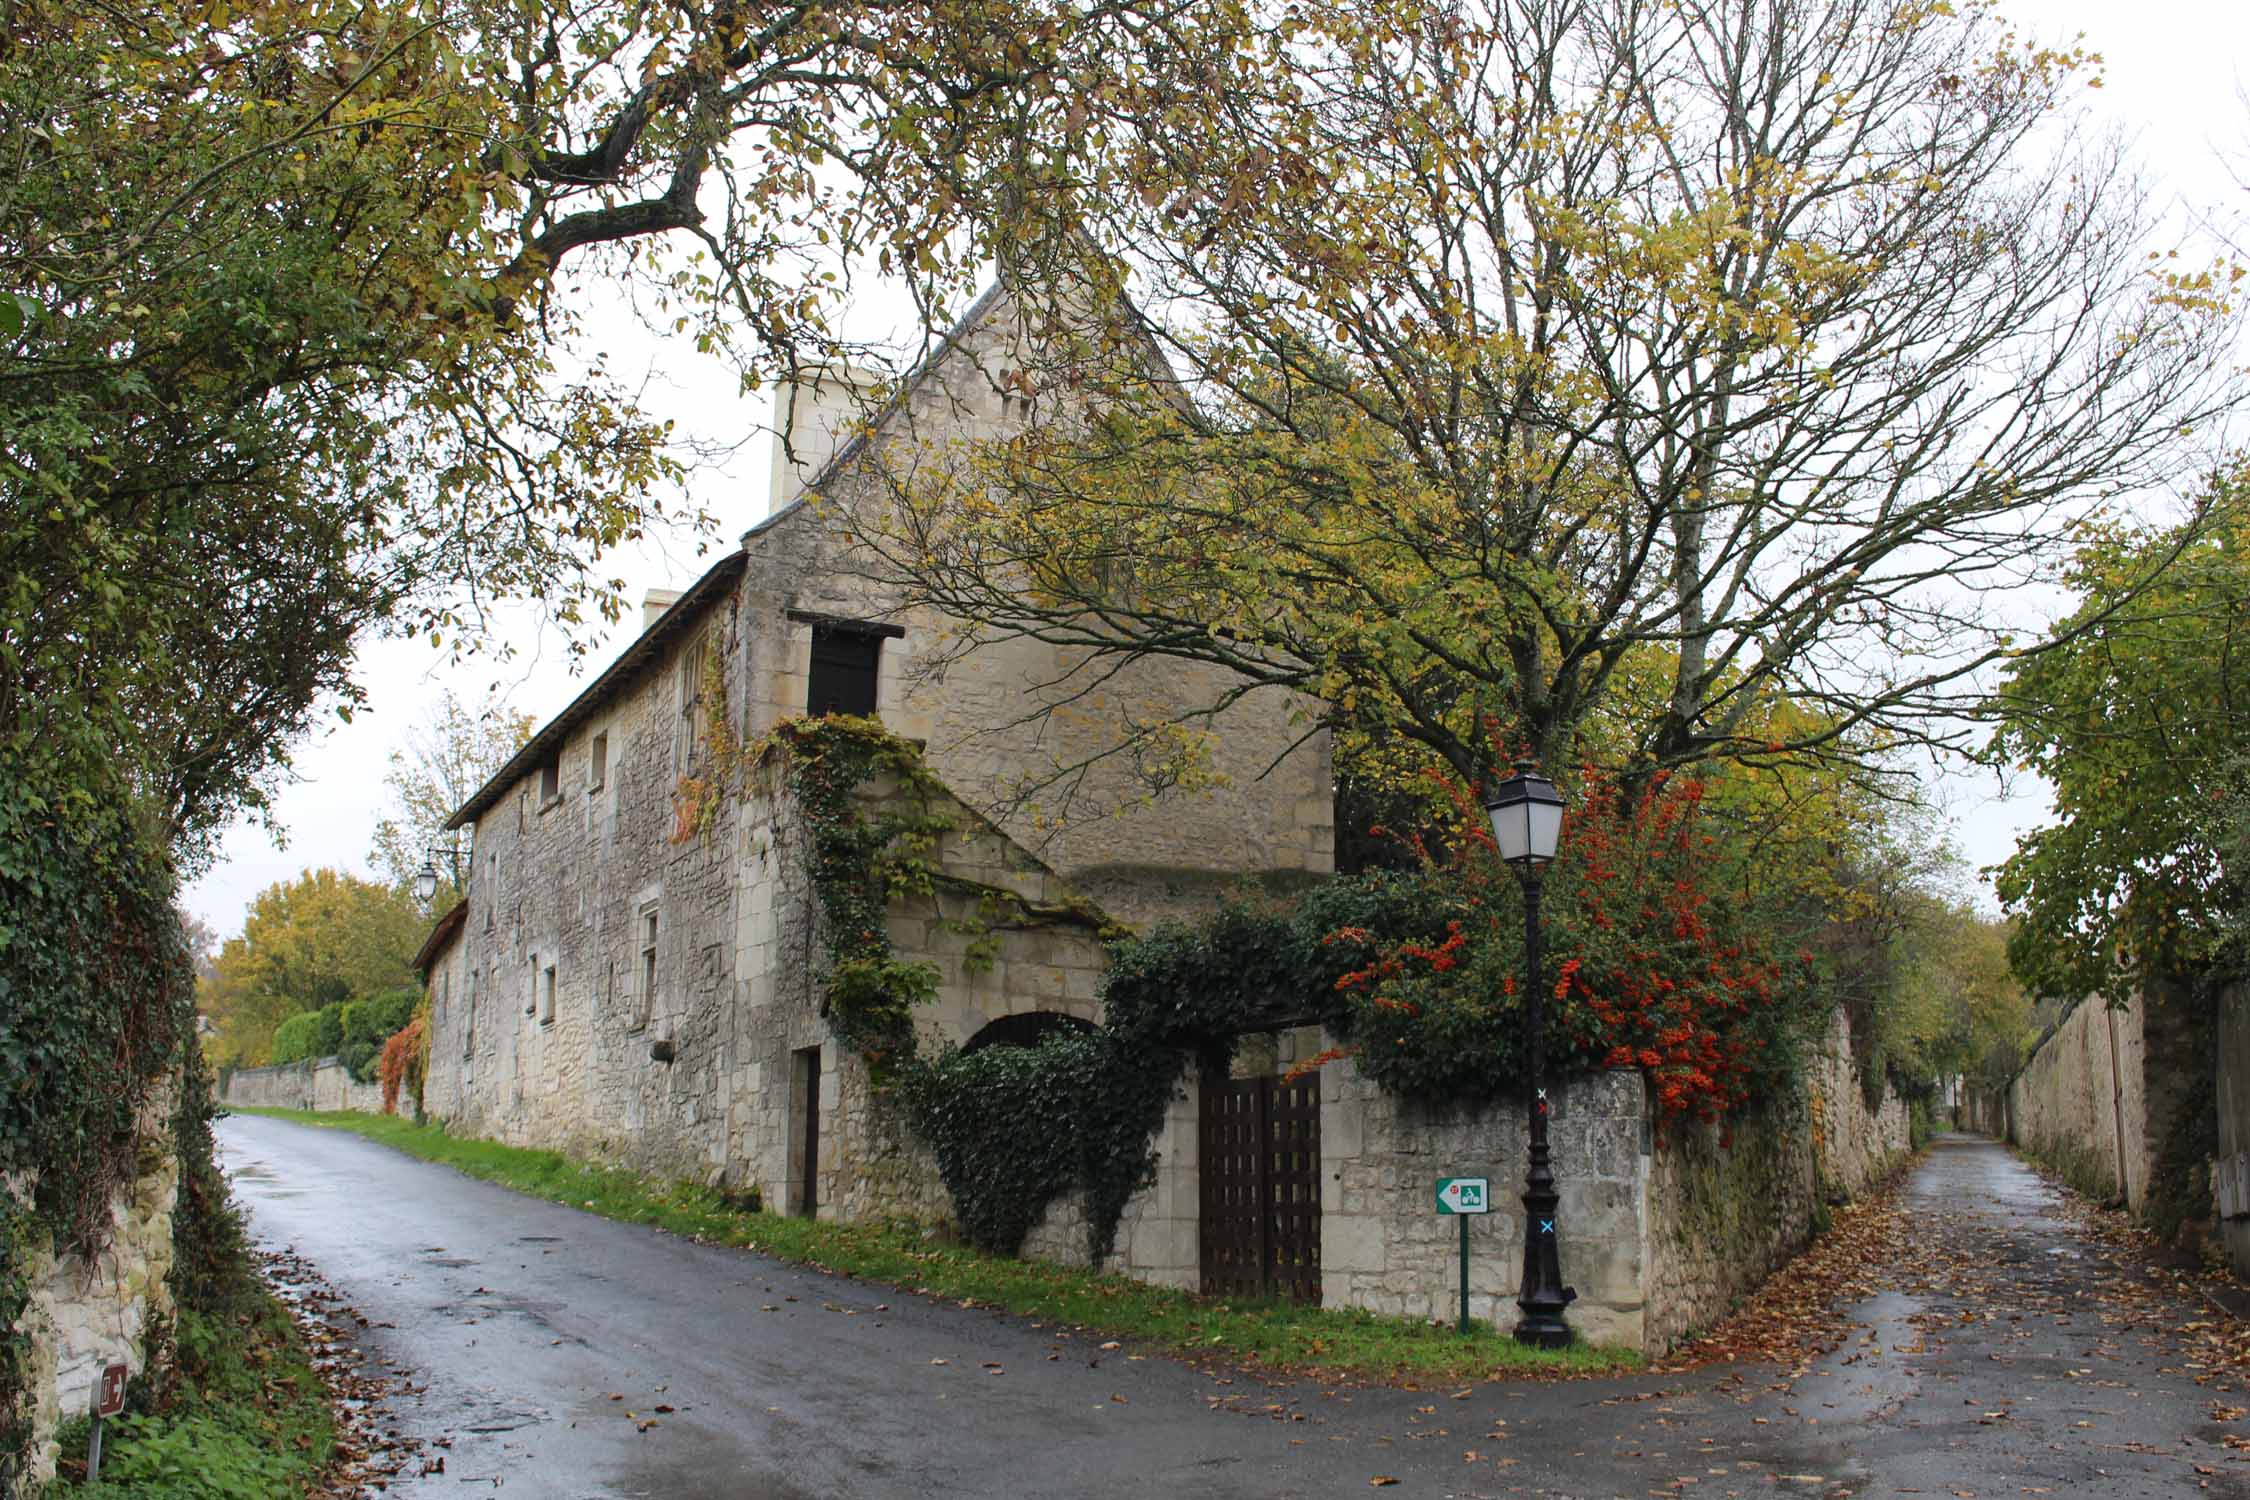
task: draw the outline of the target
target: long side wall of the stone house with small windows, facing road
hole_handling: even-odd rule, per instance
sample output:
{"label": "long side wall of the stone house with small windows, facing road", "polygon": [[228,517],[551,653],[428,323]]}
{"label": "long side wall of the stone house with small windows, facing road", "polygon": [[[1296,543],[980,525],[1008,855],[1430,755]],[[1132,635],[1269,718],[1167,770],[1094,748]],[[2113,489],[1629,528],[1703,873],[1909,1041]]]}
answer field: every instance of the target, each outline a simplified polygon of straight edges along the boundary
{"label": "long side wall of the stone house with small windows, facing road", "polygon": [[716,675],[740,702],[740,607],[722,589],[673,621],[551,778],[529,769],[477,816],[423,1088],[448,1127],[724,1178],[738,803],[713,783],[704,695]]}

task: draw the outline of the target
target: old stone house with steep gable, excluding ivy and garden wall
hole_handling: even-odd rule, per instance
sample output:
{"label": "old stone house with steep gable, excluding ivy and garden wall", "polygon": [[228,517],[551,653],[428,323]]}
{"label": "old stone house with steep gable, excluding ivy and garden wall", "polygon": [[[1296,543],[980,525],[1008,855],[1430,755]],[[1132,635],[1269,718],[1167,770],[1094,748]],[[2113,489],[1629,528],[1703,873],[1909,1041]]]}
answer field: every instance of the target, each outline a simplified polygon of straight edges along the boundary
{"label": "old stone house with steep gable, excluding ivy and garden wall", "polygon": [[[794,470],[819,501],[790,497],[691,587],[652,594],[639,639],[454,814],[472,866],[450,936],[423,954],[430,1113],[792,1212],[945,1212],[934,1167],[821,1016],[801,810],[776,778],[713,789],[713,713],[738,742],[803,713],[880,717],[950,792],[945,873],[1046,913],[999,924],[972,960],[943,902],[893,906],[898,956],[945,976],[920,1014],[932,1039],[1026,1034],[1035,1014],[1091,1021],[1105,922],[1332,868],[1328,742],[1307,735],[1303,704],[1233,704],[1215,722],[1220,783],[1145,796],[1100,751],[1134,715],[1215,699],[1215,677],[1127,672],[1102,699],[1040,717],[1028,711],[1069,666],[1058,652],[950,652],[945,618],[853,567],[828,501],[864,501],[884,466],[1024,423],[1033,353],[994,288],[880,421]],[[1026,771],[1080,762],[1066,796],[1012,796]],[[1184,1232],[1192,1217],[1163,1246],[1154,1228],[1141,1237],[1181,1280]]]}

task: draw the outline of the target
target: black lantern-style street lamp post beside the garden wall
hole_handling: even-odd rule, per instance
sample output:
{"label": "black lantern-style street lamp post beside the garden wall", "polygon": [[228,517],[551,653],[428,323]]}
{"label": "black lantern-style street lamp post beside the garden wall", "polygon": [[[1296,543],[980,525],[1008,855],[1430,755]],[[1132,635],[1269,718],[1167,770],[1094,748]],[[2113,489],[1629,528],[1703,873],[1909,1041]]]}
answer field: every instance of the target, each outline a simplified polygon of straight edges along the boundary
{"label": "black lantern-style street lamp post beside the garden wall", "polygon": [[1492,819],[1492,841],[1498,843],[1501,859],[1512,864],[1523,879],[1523,978],[1532,1030],[1532,1066],[1526,1077],[1532,1163],[1523,1178],[1523,1289],[1516,1293],[1523,1320],[1516,1322],[1516,1343],[1559,1349],[1570,1343],[1570,1325],[1564,1322],[1562,1311],[1577,1293],[1562,1284],[1562,1257],[1555,1248],[1555,1210],[1562,1196],[1555,1192],[1546,1138],[1546,985],[1539,978],[1539,873],[1555,857],[1555,843],[1562,837],[1562,794],[1555,792],[1552,780],[1539,774],[1534,762],[1519,760],[1516,774],[1494,787],[1485,814]]}

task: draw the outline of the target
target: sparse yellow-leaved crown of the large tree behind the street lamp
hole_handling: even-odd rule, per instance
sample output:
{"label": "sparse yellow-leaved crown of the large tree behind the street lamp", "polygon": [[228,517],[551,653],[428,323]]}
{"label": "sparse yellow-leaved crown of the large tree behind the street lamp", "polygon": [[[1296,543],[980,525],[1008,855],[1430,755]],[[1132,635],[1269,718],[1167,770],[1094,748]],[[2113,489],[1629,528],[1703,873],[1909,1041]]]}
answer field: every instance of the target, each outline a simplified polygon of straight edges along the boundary
{"label": "sparse yellow-leaved crown of the large tree behind the street lamp", "polygon": [[1026,371],[1094,414],[855,517],[963,645],[1220,661],[1472,778],[1487,717],[1868,762],[1960,744],[2000,596],[2239,398],[2232,272],[2151,259],[2092,58],[1987,4],[1318,0],[1238,67],[1060,198],[1062,295],[1145,310]]}

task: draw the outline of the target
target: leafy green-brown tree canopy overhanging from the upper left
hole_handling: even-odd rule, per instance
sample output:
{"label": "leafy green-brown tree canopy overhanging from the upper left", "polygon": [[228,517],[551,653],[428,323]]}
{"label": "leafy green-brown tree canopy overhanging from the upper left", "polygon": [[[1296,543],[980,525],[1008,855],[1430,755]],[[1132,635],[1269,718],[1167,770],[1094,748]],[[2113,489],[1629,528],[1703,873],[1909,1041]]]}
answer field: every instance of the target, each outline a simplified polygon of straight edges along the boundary
{"label": "leafy green-brown tree canopy overhanging from the upper left", "polygon": [[[124,0],[0,36],[0,740],[196,855],[376,627],[619,609],[682,448],[560,272],[756,380],[940,299],[1012,121],[1226,45],[1172,0]],[[1017,189],[1006,196],[1019,198]],[[844,268],[844,270],[839,270]]]}

